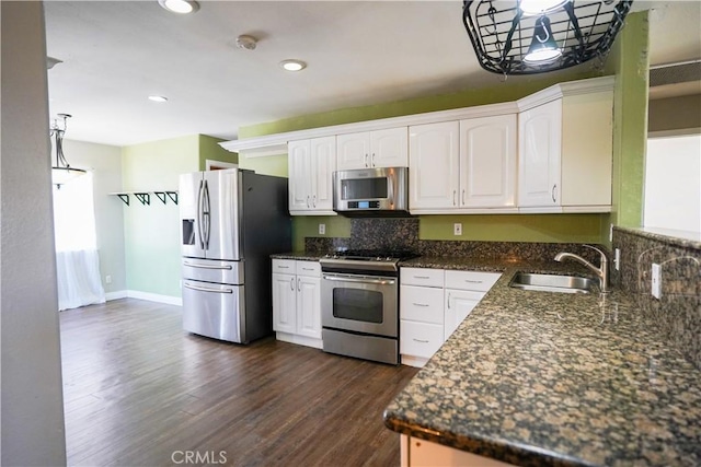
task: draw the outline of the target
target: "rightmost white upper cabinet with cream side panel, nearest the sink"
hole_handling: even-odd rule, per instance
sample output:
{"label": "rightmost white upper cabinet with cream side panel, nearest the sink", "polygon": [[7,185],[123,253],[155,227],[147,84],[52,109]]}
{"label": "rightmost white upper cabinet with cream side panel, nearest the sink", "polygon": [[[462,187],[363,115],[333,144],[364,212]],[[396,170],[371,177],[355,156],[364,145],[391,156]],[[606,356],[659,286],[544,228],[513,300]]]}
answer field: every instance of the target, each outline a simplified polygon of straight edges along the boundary
{"label": "rightmost white upper cabinet with cream side panel, nearest the sink", "polygon": [[[609,212],[613,79],[553,86],[519,101],[521,212]],[[549,96],[550,94],[550,96]]]}

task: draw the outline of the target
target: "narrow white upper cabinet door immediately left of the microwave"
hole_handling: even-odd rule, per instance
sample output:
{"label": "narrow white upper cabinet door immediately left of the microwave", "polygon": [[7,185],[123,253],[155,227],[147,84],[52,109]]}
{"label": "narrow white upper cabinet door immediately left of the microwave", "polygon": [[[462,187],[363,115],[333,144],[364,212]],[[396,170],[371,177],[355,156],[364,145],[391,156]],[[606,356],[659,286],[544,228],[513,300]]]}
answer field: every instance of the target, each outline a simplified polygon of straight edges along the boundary
{"label": "narrow white upper cabinet door immediately left of the microwave", "polygon": [[333,172],[336,170],[336,137],[314,138],[311,153],[311,209],[333,209]]}

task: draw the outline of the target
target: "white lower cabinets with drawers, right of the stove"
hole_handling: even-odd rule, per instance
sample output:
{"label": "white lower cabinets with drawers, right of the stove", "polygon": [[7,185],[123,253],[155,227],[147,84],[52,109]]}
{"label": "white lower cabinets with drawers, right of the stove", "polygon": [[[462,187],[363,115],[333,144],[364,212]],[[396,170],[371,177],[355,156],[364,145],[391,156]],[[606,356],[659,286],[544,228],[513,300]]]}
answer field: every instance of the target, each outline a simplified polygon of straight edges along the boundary
{"label": "white lower cabinets with drawers, right of the stove", "polygon": [[502,275],[401,268],[401,361],[423,366],[472,312]]}

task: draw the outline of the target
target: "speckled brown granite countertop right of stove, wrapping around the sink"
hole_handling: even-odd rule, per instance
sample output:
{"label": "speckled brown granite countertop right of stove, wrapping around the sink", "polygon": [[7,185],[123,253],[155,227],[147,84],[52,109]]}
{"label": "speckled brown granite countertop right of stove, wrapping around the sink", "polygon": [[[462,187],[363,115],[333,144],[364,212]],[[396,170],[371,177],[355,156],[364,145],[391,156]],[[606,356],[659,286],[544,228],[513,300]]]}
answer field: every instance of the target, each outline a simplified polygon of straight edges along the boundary
{"label": "speckled brown granite countertop right of stove, wrapping around the sink", "polygon": [[395,397],[390,429],[515,465],[701,465],[701,372],[635,297],[532,292],[514,272],[576,264],[417,258],[504,272]]}

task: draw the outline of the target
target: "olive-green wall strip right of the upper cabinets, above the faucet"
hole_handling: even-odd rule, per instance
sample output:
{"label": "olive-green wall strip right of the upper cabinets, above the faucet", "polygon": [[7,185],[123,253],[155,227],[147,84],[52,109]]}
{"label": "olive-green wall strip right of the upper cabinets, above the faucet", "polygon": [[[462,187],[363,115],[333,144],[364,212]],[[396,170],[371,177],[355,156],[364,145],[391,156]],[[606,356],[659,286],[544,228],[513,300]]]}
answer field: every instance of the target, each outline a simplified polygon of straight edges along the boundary
{"label": "olive-green wall strip right of the upper cabinets, above the faucet", "polygon": [[648,30],[647,11],[628,15],[607,62],[608,71],[617,75],[611,222],[625,227],[640,227],[643,218]]}

